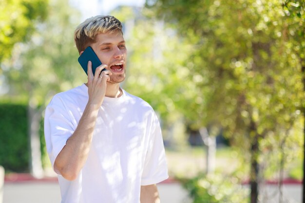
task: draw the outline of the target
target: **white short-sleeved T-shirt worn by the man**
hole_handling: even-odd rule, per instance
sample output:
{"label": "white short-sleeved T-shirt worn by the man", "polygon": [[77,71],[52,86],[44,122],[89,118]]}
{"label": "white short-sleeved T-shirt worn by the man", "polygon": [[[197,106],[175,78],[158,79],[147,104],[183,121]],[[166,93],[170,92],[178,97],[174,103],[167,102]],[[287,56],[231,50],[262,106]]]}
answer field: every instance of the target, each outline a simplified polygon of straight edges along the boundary
{"label": "white short-sleeved T-shirt worn by the man", "polygon": [[[47,106],[44,134],[52,166],[87,102],[83,84],[58,93]],[[58,174],[61,203],[140,203],[141,185],[167,178],[158,118],[147,102],[124,90],[118,98],[104,98],[88,159],[76,180]]]}

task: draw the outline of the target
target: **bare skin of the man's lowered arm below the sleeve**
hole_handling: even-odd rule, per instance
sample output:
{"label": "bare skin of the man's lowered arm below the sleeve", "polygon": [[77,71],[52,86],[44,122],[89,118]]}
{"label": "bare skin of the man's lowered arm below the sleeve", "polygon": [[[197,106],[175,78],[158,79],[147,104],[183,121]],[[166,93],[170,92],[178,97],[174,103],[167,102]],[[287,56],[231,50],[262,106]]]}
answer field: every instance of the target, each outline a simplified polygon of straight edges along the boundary
{"label": "bare skin of the man's lowered arm below the sleeve", "polygon": [[154,185],[142,185],[141,186],[141,203],[160,203],[159,192],[157,186]]}

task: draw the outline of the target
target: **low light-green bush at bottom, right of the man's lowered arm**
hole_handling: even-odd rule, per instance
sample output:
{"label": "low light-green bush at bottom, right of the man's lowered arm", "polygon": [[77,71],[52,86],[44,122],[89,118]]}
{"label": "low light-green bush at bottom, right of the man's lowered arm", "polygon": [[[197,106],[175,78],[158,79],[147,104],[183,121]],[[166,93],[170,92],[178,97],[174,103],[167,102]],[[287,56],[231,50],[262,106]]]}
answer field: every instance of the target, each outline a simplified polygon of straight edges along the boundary
{"label": "low light-green bush at bottom, right of the man's lowered arm", "polygon": [[248,189],[238,184],[236,178],[201,174],[180,182],[189,191],[192,203],[248,203]]}

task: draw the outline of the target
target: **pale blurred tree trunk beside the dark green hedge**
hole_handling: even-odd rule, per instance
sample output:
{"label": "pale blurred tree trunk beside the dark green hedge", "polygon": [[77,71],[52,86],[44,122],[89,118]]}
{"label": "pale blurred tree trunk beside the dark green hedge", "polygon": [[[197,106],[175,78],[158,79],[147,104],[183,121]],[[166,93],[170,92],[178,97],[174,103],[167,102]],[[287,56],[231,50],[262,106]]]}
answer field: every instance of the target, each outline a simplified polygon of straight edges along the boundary
{"label": "pale blurred tree trunk beside the dark green hedge", "polygon": [[42,178],[43,169],[41,164],[39,122],[41,112],[37,111],[36,105],[29,102],[28,122],[29,122],[29,145],[30,145],[30,172],[35,178]]}

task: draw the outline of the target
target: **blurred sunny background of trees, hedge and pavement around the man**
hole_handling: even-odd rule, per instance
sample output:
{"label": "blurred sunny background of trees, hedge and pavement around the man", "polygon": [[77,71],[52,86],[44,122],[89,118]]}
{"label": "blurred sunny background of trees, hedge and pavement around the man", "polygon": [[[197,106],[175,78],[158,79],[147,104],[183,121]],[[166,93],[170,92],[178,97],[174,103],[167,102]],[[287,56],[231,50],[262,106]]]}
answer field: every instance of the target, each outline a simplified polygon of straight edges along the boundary
{"label": "blurred sunny background of trees, hedge and pavement around the man", "polygon": [[0,202],[60,202],[44,109],[86,82],[73,33],[95,15],[123,23],[122,88],[160,118],[162,203],[305,203],[304,0],[0,0]]}

